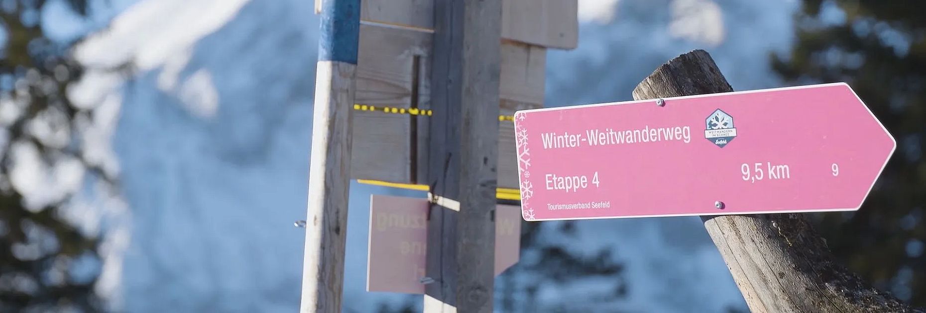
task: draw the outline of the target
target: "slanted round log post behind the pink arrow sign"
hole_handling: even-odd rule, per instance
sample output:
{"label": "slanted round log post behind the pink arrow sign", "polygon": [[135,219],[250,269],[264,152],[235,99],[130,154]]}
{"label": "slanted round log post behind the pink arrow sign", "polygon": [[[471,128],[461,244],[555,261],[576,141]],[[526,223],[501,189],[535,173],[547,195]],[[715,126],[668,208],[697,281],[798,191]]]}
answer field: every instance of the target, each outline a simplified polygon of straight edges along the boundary
{"label": "slanted round log post behind the pink arrow sign", "polygon": [[[730,91],[710,55],[695,50],[659,66],[633,90],[633,99]],[[801,214],[703,220],[753,312],[922,312],[872,288],[835,261]]]}

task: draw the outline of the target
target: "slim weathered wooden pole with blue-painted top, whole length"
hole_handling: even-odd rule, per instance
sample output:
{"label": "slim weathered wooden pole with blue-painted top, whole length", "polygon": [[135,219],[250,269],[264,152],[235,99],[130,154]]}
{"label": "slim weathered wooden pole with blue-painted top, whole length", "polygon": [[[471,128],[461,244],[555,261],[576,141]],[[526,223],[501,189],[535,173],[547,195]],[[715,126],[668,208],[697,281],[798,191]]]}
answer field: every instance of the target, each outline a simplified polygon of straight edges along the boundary
{"label": "slim weathered wooden pole with blue-painted top, whole length", "polygon": [[300,311],[341,312],[359,0],[323,0]]}

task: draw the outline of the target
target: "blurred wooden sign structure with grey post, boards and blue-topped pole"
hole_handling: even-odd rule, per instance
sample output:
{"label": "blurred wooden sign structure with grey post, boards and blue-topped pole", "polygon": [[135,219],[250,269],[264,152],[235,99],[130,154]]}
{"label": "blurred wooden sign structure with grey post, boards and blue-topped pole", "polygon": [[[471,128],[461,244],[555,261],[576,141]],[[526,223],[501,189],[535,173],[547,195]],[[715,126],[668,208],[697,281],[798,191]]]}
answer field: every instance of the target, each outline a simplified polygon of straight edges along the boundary
{"label": "blurred wooden sign structure with grey post, boards and blue-topped pole", "polygon": [[340,312],[350,179],[430,192],[425,310],[491,312],[495,198],[518,199],[512,114],[544,102],[576,0],[316,0],[302,312]]}

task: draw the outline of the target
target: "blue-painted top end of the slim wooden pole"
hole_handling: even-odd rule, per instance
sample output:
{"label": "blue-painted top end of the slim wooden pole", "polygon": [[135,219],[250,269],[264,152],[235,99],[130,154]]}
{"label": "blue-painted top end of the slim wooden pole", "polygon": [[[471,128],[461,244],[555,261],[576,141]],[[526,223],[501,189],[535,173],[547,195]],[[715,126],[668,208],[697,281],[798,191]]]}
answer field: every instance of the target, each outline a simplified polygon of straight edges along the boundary
{"label": "blue-painted top end of the slim wooden pole", "polygon": [[357,65],[360,0],[322,0],[319,61]]}

